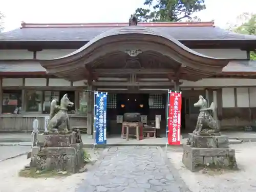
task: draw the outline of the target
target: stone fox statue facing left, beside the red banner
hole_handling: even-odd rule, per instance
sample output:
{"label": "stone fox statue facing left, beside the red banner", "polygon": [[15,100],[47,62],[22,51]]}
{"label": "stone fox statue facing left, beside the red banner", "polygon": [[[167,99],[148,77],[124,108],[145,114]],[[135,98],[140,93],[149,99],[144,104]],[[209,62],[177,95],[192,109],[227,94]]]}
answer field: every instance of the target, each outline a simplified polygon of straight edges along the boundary
{"label": "stone fox statue facing left, beside the red banner", "polygon": [[[200,113],[197,119],[196,129],[194,134],[204,132],[204,133],[217,133],[220,132],[219,120],[217,117],[217,110],[214,102],[211,103],[210,107],[207,106],[207,101],[202,95],[199,96],[198,102],[194,104],[200,108]],[[212,111],[212,116],[209,114]],[[203,126],[207,126],[207,129],[203,129]]]}

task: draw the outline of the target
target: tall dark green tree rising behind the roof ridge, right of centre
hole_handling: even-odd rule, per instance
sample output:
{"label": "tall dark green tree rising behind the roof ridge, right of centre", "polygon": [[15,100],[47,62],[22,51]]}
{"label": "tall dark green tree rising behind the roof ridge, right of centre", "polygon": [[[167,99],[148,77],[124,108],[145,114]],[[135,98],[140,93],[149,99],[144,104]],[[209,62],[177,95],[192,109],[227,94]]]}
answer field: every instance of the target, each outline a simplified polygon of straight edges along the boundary
{"label": "tall dark green tree rising behind the roof ridge, right of centre", "polygon": [[133,15],[140,22],[198,22],[192,14],[206,9],[204,0],[145,0],[144,5],[153,9],[136,9]]}

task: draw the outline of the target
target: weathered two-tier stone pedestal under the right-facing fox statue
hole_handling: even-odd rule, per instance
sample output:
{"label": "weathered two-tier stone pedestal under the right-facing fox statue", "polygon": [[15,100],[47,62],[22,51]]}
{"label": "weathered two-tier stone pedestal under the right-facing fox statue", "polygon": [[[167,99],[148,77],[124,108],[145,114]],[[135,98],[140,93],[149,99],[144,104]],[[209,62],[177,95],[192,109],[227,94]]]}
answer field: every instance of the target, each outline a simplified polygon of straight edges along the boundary
{"label": "weathered two-tier stone pedestal under the right-facing fox statue", "polygon": [[30,167],[77,173],[84,165],[80,132],[53,132],[38,135],[32,147]]}

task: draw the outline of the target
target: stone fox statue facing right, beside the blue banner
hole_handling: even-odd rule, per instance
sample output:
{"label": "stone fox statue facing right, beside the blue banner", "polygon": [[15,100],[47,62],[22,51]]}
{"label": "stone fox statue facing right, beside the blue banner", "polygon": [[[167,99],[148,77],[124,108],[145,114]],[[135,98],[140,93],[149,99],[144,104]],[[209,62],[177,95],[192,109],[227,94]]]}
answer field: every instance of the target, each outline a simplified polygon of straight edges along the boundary
{"label": "stone fox statue facing right, beside the blue banner", "polygon": [[47,126],[47,131],[69,131],[69,115],[68,106],[73,106],[74,103],[68,98],[68,94],[65,94],[61,100],[60,105],[56,104],[55,99],[51,102],[50,119]]}

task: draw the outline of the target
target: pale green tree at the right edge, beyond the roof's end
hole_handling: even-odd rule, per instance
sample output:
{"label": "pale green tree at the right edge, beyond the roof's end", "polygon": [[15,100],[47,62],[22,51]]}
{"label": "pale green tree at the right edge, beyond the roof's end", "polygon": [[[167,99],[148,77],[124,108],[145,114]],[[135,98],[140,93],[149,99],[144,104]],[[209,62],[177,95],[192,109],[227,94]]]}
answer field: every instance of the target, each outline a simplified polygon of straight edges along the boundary
{"label": "pale green tree at the right edge, beyond the roof's end", "polygon": [[[236,23],[229,24],[229,30],[236,33],[256,35],[256,14],[243,13],[239,15]],[[256,50],[250,52],[250,59],[256,60]]]}

